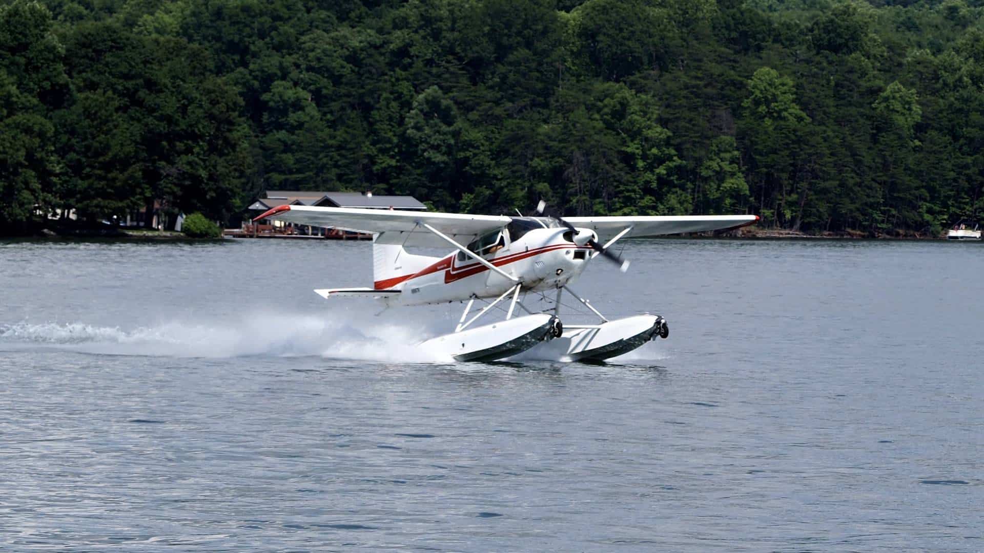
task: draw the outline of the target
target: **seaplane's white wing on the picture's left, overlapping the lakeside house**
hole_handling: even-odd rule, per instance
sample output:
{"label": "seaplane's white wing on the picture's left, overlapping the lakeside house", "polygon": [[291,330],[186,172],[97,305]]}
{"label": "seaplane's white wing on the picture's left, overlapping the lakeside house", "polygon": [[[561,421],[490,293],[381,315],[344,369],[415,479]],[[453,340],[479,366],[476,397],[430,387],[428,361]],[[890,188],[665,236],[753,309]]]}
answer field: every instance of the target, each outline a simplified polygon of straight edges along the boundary
{"label": "seaplane's white wing on the picture's left, overlapping the lakeside house", "polygon": [[320,208],[316,206],[277,206],[257,216],[276,218],[312,226],[328,226],[357,232],[378,233],[377,242],[408,246],[444,247],[448,243],[430,230],[429,224],[461,244],[509,224],[508,216],[439,214],[434,212],[404,212],[399,210],[361,210],[355,208]]}

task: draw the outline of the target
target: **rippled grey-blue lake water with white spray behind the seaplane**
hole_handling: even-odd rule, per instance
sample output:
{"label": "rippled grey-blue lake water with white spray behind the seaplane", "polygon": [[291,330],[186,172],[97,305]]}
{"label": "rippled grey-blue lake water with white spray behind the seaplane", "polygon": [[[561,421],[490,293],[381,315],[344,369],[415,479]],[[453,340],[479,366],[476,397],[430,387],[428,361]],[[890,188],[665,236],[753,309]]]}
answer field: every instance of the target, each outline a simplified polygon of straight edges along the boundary
{"label": "rippled grey-blue lake water with white spray behind the seaplane", "polygon": [[606,364],[435,362],[370,251],[0,242],[0,550],[984,550],[980,244],[629,241]]}

